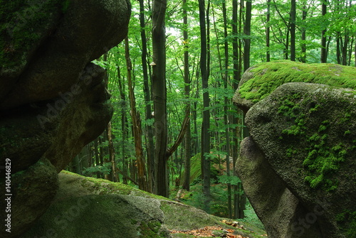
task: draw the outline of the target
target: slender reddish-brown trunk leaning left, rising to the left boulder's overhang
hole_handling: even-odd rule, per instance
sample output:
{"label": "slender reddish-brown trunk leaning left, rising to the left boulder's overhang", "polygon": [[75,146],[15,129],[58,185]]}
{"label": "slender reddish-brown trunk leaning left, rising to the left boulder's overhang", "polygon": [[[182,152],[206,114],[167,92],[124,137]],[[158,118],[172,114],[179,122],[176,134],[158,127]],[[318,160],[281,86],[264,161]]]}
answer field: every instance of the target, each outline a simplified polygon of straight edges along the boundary
{"label": "slender reddish-brown trunk leaning left, rising to the left boulder's overhang", "polygon": [[135,93],[132,85],[131,79],[131,59],[129,50],[129,40],[125,38],[125,58],[127,67],[127,85],[129,87],[129,98],[130,98],[130,108],[131,108],[131,119],[132,119],[132,130],[135,140],[135,152],[136,152],[136,163],[137,163],[137,181],[140,190],[147,191],[147,180],[146,180],[146,166],[143,158],[142,149],[142,129],[141,129],[141,119],[140,113],[136,109]]}

